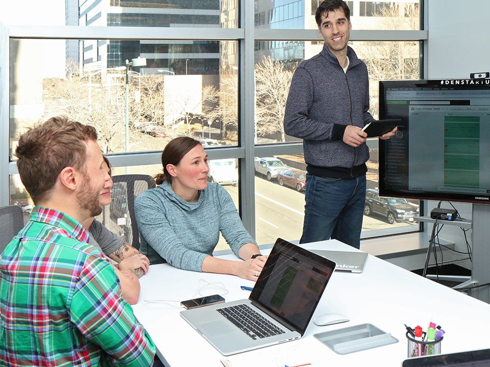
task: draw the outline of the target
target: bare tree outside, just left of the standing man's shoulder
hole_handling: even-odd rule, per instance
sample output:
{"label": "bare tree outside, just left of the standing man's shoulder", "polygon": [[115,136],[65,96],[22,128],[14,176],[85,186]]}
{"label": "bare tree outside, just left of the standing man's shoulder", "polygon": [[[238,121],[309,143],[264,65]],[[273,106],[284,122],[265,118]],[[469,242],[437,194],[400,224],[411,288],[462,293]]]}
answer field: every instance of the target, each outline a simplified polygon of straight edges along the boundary
{"label": "bare tree outside, just left of the standing man's shoulder", "polygon": [[293,71],[271,57],[264,57],[255,65],[255,89],[257,95],[257,135],[277,132],[281,141],[284,135],[284,109]]}

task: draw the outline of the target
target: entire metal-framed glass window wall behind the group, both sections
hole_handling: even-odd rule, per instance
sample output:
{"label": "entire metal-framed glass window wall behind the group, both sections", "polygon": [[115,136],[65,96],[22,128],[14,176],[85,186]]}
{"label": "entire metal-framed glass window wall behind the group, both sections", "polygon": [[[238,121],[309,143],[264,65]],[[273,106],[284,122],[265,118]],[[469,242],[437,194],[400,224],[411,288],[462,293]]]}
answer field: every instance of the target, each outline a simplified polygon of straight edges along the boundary
{"label": "entire metal-framed glass window wall behind the group, both sections", "polygon": [[[351,45],[369,68],[377,117],[378,80],[420,76],[427,37],[420,27],[422,4],[348,5]],[[302,142],[284,134],[282,119],[293,71],[323,46],[314,21],[318,1],[87,0],[59,6],[64,24],[78,27],[53,26],[52,19],[43,24],[48,17],[40,14],[35,28],[21,18],[8,20],[10,109],[2,113],[2,126],[9,153],[2,159],[10,163],[3,204],[31,204],[16,174],[19,135],[38,120],[64,114],[97,129],[115,174],[154,175],[168,141],[200,140],[211,160],[208,179],[230,192],[260,245],[279,236],[300,238]],[[374,196],[377,141],[369,145]],[[261,170],[266,157],[281,172]],[[363,237],[418,229],[386,213],[366,214]],[[220,246],[226,247],[223,240]]]}

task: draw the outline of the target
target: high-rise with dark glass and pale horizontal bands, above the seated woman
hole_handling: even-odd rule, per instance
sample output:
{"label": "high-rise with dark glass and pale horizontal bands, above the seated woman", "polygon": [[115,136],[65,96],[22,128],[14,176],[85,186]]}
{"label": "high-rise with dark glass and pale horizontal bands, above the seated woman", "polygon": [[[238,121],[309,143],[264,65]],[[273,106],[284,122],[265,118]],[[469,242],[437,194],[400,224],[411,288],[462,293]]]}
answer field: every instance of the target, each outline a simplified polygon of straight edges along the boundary
{"label": "high-rise with dark glass and pale horizontal bands, above the seated woman", "polygon": [[[219,0],[86,0],[79,16],[85,26],[220,27]],[[219,41],[84,40],[81,61],[85,69],[113,68],[138,56],[146,58],[144,73],[215,74]]]}

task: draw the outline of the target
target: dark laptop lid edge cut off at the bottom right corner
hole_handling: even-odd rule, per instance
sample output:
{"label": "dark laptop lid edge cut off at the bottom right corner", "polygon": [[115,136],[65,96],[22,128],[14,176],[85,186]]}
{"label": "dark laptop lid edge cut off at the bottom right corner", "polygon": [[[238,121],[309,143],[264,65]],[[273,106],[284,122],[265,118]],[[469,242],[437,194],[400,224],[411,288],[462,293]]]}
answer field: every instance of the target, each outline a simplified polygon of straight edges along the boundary
{"label": "dark laptop lid edge cut off at the bottom right corner", "polygon": [[402,367],[487,367],[490,365],[490,349],[450,354],[435,354],[408,358]]}

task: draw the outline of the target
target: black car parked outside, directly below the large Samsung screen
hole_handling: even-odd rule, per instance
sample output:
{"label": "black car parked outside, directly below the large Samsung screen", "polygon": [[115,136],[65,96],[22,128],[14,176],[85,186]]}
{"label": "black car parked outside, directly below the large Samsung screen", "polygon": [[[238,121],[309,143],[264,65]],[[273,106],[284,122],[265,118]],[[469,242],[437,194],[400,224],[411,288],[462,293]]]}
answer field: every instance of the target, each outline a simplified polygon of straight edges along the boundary
{"label": "black car parked outside, directly below the large Samsung screen", "polygon": [[409,202],[407,199],[379,197],[376,190],[366,190],[364,215],[373,213],[386,217],[388,223],[413,222],[413,217],[419,216],[419,205]]}

